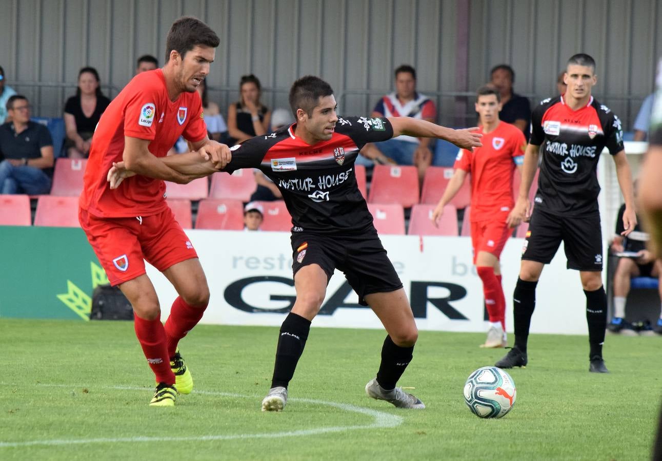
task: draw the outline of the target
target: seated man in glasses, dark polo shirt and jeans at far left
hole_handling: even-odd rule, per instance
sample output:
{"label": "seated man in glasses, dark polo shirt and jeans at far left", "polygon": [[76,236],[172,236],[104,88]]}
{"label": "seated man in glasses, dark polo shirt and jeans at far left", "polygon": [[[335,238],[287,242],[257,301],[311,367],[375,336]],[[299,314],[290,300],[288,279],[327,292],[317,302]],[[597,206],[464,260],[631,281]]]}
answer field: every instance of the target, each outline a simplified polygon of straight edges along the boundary
{"label": "seated man in glasses, dark polo shirt and jeans at far left", "polygon": [[53,142],[48,128],[30,120],[30,104],[22,95],[7,101],[11,122],[0,126],[0,193],[48,194]]}

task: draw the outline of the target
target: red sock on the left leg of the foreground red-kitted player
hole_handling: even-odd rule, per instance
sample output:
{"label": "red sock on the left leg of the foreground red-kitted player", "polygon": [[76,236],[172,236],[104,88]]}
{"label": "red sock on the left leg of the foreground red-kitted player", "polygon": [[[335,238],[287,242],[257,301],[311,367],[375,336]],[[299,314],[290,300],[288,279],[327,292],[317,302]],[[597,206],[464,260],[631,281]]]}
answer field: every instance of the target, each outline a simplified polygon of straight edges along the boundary
{"label": "red sock on the left leg of the foreground red-kitted player", "polygon": [[134,315],[133,325],[142,352],[156,375],[156,381],[175,384],[175,374],[170,369],[170,356],[167,353],[166,331],[161,319],[146,320]]}

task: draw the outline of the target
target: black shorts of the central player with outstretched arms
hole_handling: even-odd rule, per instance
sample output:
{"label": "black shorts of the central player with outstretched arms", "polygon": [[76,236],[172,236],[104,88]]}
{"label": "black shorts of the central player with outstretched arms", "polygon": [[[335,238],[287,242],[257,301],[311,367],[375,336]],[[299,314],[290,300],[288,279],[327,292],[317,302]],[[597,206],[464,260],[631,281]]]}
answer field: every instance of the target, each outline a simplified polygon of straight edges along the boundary
{"label": "black shorts of the central player with outstretched arms", "polygon": [[292,271],[317,264],[326,272],[327,282],[334,269],[344,272],[350,286],[359,295],[359,304],[367,306],[364,296],[392,292],[402,288],[377,231],[361,235],[320,235],[292,233]]}

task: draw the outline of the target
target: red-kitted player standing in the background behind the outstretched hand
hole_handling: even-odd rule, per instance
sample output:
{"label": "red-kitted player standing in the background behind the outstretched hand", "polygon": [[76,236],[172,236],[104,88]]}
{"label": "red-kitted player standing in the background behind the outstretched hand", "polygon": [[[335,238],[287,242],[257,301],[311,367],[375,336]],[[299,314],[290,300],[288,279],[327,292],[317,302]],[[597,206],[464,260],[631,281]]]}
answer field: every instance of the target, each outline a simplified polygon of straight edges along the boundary
{"label": "red-kitted player standing in the background behind the outstretched hand", "polygon": [[431,219],[437,225],[444,214],[444,206],[457,194],[467,174],[471,174],[473,263],[483,282],[490,321],[487,339],[481,347],[504,347],[506,298],[501,287],[499,257],[512,228],[520,224],[520,220],[512,214],[512,175],[515,167],[521,173],[526,140],[519,128],[499,120],[500,96],[495,89],[480,88],[475,108],[483,133],[483,147],[459,151],[455,159],[455,173]]}

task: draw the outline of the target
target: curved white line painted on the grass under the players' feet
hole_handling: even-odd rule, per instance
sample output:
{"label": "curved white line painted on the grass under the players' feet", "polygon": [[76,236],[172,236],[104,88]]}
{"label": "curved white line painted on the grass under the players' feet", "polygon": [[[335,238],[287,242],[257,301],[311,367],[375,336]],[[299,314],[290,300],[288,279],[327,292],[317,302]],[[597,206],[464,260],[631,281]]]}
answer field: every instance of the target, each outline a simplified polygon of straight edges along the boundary
{"label": "curved white line painted on the grass under the players' feet", "polygon": [[[0,386],[17,386],[15,383],[0,382]],[[81,384],[36,384],[36,386],[44,386],[51,388],[82,388],[86,387]],[[132,386],[87,386],[97,389],[117,389],[117,390],[140,390],[145,391],[148,388],[138,388]],[[196,394],[206,394],[209,396],[222,396],[222,397],[235,397],[235,398],[259,398],[259,396],[244,396],[242,394],[233,394],[231,392],[215,392],[196,390]],[[377,411],[369,408],[357,407],[348,403],[338,403],[334,401],[323,401],[316,399],[303,399],[291,398],[288,401],[301,401],[306,403],[315,403],[317,405],[326,405],[328,407],[336,407],[344,411],[352,411],[354,413],[361,413],[363,415],[371,416],[374,421],[367,425],[356,426],[333,426],[333,427],[318,427],[315,429],[301,429],[299,431],[282,431],[274,433],[261,433],[261,434],[234,434],[234,435],[202,435],[191,437],[116,437],[112,439],[54,439],[54,440],[28,440],[26,442],[0,442],[0,448],[13,448],[18,446],[34,446],[34,445],[79,445],[88,443],[125,443],[125,442],[207,442],[213,440],[236,440],[236,439],[276,439],[278,437],[301,437],[305,435],[327,434],[342,431],[354,431],[355,429],[375,429],[375,428],[389,428],[397,427],[402,424],[404,419],[398,415],[391,415],[384,411]],[[259,407],[256,407],[256,413],[260,413]]]}

